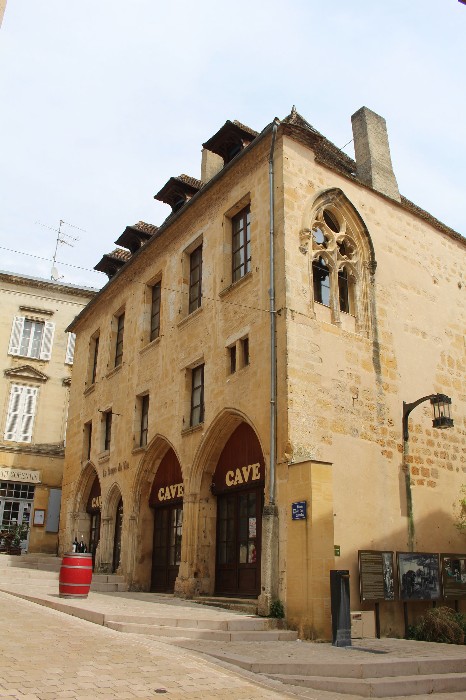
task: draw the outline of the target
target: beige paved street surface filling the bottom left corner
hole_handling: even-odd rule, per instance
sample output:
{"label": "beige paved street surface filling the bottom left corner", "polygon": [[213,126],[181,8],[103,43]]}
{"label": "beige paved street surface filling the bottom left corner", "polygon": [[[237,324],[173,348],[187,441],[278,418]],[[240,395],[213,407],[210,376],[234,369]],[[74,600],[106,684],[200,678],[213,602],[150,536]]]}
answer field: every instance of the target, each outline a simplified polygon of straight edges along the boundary
{"label": "beige paved street surface filling the bottom left corner", "polygon": [[1,700],[286,697],[187,650],[124,635],[5,593],[0,593],[0,653]]}

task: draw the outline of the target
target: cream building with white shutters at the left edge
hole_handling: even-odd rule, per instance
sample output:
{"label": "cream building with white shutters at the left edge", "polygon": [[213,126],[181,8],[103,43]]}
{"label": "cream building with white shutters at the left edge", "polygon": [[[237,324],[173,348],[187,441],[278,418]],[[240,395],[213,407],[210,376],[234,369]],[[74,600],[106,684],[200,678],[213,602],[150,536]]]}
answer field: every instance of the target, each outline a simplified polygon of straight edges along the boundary
{"label": "cream building with white shutters at the left edge", "polygon": [[29,524],[29,552],[57,552],[75,342],[65,328],[95,293],[0,272],[0,527]]}

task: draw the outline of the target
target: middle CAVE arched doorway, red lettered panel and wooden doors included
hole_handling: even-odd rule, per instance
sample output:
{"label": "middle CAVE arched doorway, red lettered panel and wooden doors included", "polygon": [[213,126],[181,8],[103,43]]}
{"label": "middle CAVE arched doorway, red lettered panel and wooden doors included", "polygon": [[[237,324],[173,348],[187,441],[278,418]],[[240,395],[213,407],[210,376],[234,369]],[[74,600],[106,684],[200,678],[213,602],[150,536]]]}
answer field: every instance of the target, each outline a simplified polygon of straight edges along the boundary
{"label": "middle CAVE arched doorway, red lettered panel and wooden doors included", "polygon": [[151,591],[173,592],[181,563],[183,477],[170,447],[152,483],[149,506],[154,508]]}

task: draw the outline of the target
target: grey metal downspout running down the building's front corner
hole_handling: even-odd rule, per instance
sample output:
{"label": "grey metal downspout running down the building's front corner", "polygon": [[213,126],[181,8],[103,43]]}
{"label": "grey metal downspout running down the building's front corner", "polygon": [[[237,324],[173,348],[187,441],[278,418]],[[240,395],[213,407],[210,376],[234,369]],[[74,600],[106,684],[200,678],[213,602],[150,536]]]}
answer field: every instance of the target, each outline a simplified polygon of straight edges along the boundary
{"label": "grey metal downspout running down the building's front corner", "polygon": [[277,393],[277,369],[275,355],[275,248],[274,248],[274,198],[273,198],[273,152],[275,149],[275,137],[277,137],[277,118],[273,121],[272,143],[270,144],[270,156],[268,159],[269,177],[269,204],[270,204],[270,491],[269,503],[275,504],[275,395]]}

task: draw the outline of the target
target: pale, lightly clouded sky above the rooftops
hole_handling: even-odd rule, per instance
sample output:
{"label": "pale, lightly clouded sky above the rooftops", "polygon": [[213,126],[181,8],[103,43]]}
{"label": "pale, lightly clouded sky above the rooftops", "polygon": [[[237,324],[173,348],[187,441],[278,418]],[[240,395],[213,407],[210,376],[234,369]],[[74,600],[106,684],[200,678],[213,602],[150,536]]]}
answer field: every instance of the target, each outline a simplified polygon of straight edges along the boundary
{"label": "pale, lightly clouded sky above the rooftops", "polygon": [[[400,193],[466,235],[466,6],[457,0],[8,0],[0,29],[0,245],[92,269],[153,196],[201,174],[227,119],[291,106],[340,148],[351,114],[386,118]],[[349,144],[344,149],[354,158]],[[0,269],[51,262],[0,251]],[[57,262],[68,283],[107,277]]]}

